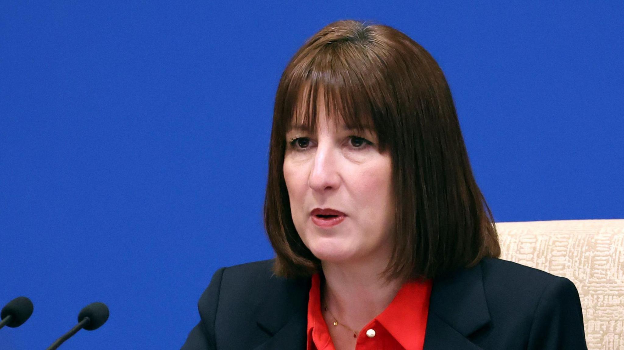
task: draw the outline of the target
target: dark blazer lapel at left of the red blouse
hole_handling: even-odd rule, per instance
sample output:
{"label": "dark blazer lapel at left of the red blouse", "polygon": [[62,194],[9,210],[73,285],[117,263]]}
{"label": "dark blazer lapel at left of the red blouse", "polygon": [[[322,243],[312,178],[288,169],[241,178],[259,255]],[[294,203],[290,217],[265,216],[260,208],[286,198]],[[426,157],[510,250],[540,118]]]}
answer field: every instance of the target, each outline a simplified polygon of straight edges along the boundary
{"label": "dark blazer lapel at left of the red blouse", "polygon": [[256,323],[270,336],[253,350],[305,349],[311,279],[283,280],[263,302]]}

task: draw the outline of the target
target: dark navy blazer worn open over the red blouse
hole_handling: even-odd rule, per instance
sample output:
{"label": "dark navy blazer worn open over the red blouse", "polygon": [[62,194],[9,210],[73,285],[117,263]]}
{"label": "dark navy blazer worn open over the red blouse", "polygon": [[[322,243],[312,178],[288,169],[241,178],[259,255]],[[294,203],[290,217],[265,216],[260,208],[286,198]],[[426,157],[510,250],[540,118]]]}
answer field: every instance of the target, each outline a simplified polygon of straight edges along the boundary
{"label": "dark navy blazer worn open over the red blouse", "polygon": [[[183,350],[306,349],[311,278],[272,276],[272,260],[221,268]],[[424,350],[587,349],[580,299],[563,277],[485,258],[434,279]]]}

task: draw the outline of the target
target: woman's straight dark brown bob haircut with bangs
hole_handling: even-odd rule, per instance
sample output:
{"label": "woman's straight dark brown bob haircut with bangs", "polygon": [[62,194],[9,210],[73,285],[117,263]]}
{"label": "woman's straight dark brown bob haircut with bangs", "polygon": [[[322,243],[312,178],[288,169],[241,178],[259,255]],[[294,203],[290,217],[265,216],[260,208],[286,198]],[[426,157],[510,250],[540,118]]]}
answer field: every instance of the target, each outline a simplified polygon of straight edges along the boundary
{"label": "woman's straight dark brown bob haircut with bangs", "polygon": [[345,20],[308,39],[277,88],[264,204],[276,275],[321,272],[293,224],[283,174],[286,133],[295,122],[316,130],[321,94],[334,122],[372,127],[379,150],[391,154],[396,210],[388,280],[434,278],[499,257],[492,212],[472,174],[442,70],[406,34]]}

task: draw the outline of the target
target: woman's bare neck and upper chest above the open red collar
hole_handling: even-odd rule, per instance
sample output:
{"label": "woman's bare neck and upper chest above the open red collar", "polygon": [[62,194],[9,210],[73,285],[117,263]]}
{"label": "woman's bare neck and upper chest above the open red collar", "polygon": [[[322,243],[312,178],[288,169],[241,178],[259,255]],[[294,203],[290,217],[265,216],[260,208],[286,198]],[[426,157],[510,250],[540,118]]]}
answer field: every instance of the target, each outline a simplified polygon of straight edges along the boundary
{"label": "woman's bare neck and upper chest above the open red collar", "polygon": [[359,331],[386,309],[401,289],[401,281],[388,282],[380,275],[387,264],[322,262],[321,302],[340,322]]}

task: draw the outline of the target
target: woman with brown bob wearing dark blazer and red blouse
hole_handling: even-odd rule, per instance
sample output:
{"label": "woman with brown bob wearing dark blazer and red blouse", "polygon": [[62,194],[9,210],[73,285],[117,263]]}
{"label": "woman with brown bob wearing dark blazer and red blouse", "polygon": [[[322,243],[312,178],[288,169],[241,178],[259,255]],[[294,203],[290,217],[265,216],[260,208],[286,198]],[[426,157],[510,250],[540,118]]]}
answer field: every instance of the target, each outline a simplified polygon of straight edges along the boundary
{"label": "woman with brown bob wearing dark blazer and red blouse", "polygon": [[273,260],[218,270],[183,349],[586,349],[566,278],[500,260],[451,92],[388,26],[338,21],[275,99]]}

